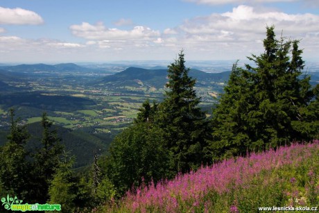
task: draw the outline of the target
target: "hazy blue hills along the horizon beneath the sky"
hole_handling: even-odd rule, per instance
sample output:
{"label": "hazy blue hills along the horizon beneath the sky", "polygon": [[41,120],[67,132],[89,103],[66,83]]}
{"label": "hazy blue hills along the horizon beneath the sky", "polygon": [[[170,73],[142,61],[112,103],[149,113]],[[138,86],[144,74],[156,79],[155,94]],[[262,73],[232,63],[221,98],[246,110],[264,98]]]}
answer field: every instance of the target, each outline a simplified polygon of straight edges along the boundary
{"label": "hazy blue hills along the horizon beneath the sky", "polygon": [[[67,73],[107,73],[103,69],[88,68],[76,65],[74,63],[63,63],[58,65],[15,65],[15,66],[0,66],[0,89],[9,90],[10,86],[6,83],[10,80],[23,80],[21,76],[28,76],[30,74],[67,74]],[[110,72],[109,72],[110,74]],[[319,82],[319,72],[309,72],[311,75],[311,84],[316,85]],[[220,73],[207,73],[198,69],[191,69],[189,75],[197,79],[196,86],[205,87],[212,83],[224,83],[227,82],[230,75],[230,71],[223,71]],[[111,87],[123,87],[123,86],[138,86],[146,85],[149,87],[163,88],[167,80],[167,69],[164,67],[152,67],[150,69],[144,69],[141,67],[129,67],[116,74],[105,76],[99,80],[99,84],[111,86]]]}

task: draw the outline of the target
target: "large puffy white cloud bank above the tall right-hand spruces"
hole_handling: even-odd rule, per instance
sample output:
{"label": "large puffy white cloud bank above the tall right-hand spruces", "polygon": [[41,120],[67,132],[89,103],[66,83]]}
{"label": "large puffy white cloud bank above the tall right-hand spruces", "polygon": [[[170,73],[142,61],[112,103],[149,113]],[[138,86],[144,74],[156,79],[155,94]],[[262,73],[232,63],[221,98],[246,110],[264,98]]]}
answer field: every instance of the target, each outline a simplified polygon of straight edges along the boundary
{"label": "large puffy white cloud bank above the tall right-hand spruces", "polygon": [[313,14],[289,15],[284,12],[258,12],[251,6],[238,6],[232,12],[214,13],[207,17],[190,19],[180,28],[189,34],[223,35],[223,37],[243,38],[245,33],[255,37],[264,33],[266,24],[275,25],[289,34],[304,34],[319,31],[319,16]]}

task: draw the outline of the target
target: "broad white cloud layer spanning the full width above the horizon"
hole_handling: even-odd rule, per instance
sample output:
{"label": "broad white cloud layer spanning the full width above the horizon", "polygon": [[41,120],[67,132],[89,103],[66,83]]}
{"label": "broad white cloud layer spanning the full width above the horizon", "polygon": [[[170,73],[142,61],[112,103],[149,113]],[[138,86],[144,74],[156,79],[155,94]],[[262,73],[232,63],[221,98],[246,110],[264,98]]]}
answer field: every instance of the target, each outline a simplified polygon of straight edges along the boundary
{"label": "broad white cloud layer spanning the full width above the horizon", "polygon": [[[238,2],[238,1],[236,1]],[[265,1],[264,1],[265,2]],[[310,2],[310,0],[309,0]],[[318,1],[319,2],[319,1]],[[170,60],[184,49],[191,60],[236,60],[259,54],[266,26],[302,39],[303,56],[316,57],[319,49],[319,15],[288,14],[273,8],[236,6],[223,13],[193,17],[160,32],[146,26],[123,30],[107,28],[102,22],[75,24],[69,30],[85,39],[83,44],[59,40],[26,40],[0,36],[1,59],[60,58],[60,60]],[[0,33],[5,29],[0,28]],[[1,34],[0,34],[1,35]],[[6,54],[4,54],[6,52]]]}

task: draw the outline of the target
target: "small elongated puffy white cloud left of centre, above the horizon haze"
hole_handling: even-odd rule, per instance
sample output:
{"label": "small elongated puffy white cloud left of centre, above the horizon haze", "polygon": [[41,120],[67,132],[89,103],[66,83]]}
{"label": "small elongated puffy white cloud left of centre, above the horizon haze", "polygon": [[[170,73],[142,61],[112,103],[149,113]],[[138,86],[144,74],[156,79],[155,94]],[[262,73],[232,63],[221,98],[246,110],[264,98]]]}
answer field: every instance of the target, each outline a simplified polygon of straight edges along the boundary
{"label": "small elongated puffy white cloud left of centre, above the horizon haze", "polygon": [[107,28],[102,22],[95,25],[83,22],[70,26],[70,30],[73,35],[87,40],[150,40],[160,36],[159,31],[145,26],[135,26],[130,31],[123,31],[118,28]]}

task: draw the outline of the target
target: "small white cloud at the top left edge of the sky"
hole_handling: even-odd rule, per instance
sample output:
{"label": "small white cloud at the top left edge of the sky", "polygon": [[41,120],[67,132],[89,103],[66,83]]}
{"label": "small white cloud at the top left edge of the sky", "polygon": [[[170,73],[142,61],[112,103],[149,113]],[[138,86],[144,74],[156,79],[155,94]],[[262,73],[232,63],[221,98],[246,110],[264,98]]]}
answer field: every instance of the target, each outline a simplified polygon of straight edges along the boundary
{"label": "small white cloud at the top left edge of the sky", "polygon": [[37,13],[21,8],[0,7],[0,24],[42,24],[42,17]]}

